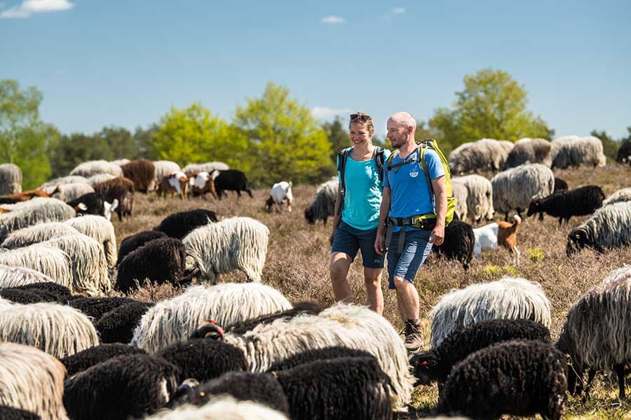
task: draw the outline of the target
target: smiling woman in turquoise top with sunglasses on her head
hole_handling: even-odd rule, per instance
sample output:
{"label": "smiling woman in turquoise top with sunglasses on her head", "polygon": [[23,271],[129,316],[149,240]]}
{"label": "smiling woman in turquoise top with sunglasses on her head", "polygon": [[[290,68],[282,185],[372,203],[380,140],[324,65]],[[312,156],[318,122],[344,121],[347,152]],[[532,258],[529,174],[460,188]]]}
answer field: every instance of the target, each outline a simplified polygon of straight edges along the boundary
{"label": "smiling woman in turquoise top with sunglasses on her head", "polygon": [[[368,306],[378,314],[384,310],[384,295],[381,292],[381,271],[384,269],[384,255],[374,251],[376,231],[379,226],[381,206],[380,167],[388,159],[389,151],[383,151],[372,144],[374,124],[365,113],[351,114],[348,125],[351,148],[338,155],[339,186],[335,201],[333,232],[329,237],[332,245],[329,271],[335,299],[353,301],[351,286],[346,276],[358,251],[362,251],[364,282],[368,296]],[[344,165],[340,165],[344,160]],[[341,181],[344,176],[344,204],[341,204]],[[340,207],[343,208],[342,211]],[[340,214],[341,213],[341,214]]]}

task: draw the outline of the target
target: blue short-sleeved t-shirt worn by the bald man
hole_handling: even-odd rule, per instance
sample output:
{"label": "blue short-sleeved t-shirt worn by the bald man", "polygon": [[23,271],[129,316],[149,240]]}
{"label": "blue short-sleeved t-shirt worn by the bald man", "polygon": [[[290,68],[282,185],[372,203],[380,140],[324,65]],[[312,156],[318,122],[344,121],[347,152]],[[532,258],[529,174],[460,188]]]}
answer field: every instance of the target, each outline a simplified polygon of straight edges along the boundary
{"label": "blue short-sleeved t-shirt worn by the bald man", "polygon": [[[405,160],[412,158],[419,159],[418,148],[410,153]],[[397,154],[393,158],[391,166],[400,162],[403,162],[403,160]],[[442,167],[438,153],[426,149],[425,162],[427,162],[430,179],[445,176],[445,168]],[[388,171],[386,162],[384,173],[384,187],[388,187],[391,190],[388,216],[408,218],[419,214],[434,213],[434,197],[428,186],[427,178],[423,174],[423,167],[421,167],[421,163],[418,160],[400,167],[393,167],[390,171]],[[406,227],[406,230],[413,229],[411,226]],[[400,226],[395,226],[394,232],[398,230],[400,230]]]}

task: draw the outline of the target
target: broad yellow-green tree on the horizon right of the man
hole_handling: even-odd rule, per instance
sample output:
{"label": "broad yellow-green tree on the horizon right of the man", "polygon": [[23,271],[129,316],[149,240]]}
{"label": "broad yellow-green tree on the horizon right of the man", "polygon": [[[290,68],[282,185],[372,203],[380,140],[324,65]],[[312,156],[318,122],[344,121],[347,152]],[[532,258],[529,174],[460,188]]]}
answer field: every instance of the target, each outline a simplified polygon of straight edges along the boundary
{"label": "broad yellow-green tree on the horizon right of the man", "polygon": [[550,138],[552,130],[541,117],[526,109],[523,85],[501,70],[482,69],[464,77],[453,109],[439,108],[429,128],[440,132],[439,141],[452,147],[484,137],[515,141],[522,137]]}

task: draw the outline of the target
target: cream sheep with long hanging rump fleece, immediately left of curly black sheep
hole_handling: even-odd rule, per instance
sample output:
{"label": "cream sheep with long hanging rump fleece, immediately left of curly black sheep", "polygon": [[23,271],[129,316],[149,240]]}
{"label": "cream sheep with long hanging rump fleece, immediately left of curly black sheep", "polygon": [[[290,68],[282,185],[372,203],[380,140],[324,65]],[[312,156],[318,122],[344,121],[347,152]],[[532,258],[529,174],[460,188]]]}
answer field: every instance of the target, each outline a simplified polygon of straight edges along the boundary
{"label": "cream sheep with long hanging rump fleece, immediately left of curly black sheep", "polygon": [[99,296],[111,290],[103,246],[95,239],[79,233],[43,241],[41,246],[59,248],[70,257],[73,293]]}

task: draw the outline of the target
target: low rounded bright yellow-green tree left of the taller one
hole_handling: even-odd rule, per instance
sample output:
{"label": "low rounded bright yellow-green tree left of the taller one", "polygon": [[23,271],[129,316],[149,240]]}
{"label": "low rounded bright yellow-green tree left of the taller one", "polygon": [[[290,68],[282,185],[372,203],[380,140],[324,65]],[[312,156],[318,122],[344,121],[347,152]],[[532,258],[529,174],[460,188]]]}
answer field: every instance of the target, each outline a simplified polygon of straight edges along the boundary
{"label": "low rounded bright yellow-green tree left of the taller one", "polygon": [[173,107],[165,114],[151,136],[149,156],[179,165],[220,161],[243,172],[248,172],[252,163],[245,135],[212,116],[202,104],[186,109]]}

